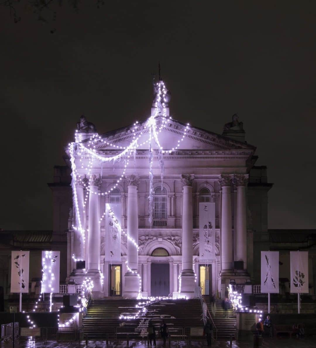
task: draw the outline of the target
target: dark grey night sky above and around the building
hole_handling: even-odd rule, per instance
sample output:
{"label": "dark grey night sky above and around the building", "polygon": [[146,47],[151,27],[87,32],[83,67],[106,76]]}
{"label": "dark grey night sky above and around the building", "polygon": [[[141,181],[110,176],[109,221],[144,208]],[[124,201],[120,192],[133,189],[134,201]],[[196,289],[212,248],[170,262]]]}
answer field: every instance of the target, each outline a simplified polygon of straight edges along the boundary
{"label": "dark grey night sky above and around the building", "polygon": [[46,183],[80,115],[100,134],[148,117],[159,60],[173,118],[221,134],[239,114],[269,228],[316,228],[316,1],[82,1],[48,24],[26,2],[18,24],[0,7],[1,228],[52,228]]}

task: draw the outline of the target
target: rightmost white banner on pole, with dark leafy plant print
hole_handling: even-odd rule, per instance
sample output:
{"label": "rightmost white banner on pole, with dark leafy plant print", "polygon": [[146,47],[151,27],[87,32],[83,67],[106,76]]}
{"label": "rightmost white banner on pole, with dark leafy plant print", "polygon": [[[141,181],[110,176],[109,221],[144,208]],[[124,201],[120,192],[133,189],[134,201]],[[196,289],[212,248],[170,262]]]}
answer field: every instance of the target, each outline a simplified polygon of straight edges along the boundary
{"label": "rightmost white banner on pole, with dark leafy plant print", "polygon": [[290,251],[291,292],[308,293],[308,251]]}

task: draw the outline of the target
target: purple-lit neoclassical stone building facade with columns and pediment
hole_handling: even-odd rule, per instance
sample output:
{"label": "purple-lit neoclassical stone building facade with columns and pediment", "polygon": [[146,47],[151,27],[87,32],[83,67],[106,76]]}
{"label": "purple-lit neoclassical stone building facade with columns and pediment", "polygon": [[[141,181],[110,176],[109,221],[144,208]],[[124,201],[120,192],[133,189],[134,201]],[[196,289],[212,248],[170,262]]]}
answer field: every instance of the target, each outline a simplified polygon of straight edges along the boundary
{"label": "purple-lit neoclassical stone building facade with columns and pediment", "polygon": [[[155,115],[154,107],[160,147],[149,151],[148,120],[102,135],[84,117],[78,122],[81,150],[66,149],[77,199],[66,280],[90,277],[96,297],[193,298],[199,286],[223,298],[230,282],[249,284],[256,272],[253,233],[267,231],[272,187],[266,167],[255,165],[256,148],[245,142],[237,115],[220,135],[173,120],[168,107]],[[132,153],[102,161],[136,138]],[[213,215],[200,226],[203,208]]]}

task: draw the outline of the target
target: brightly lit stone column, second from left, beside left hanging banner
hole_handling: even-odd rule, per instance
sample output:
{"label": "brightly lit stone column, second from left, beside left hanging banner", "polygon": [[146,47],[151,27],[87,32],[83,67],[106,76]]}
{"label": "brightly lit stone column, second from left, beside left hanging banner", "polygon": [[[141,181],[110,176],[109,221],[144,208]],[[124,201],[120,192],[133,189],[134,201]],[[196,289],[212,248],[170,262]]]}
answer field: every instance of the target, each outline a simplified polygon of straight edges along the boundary
{"label": "brightly lit stone column, second from left, beside left hanging banner", "polygon": [[100,257],[100,226],[99,226],[99,198],[98,179],[96,175],[90,177],[89,193],[89,233],[88,233],[88,275],[94,282],[92,296],[101,297],[101,281],[99,274]]}

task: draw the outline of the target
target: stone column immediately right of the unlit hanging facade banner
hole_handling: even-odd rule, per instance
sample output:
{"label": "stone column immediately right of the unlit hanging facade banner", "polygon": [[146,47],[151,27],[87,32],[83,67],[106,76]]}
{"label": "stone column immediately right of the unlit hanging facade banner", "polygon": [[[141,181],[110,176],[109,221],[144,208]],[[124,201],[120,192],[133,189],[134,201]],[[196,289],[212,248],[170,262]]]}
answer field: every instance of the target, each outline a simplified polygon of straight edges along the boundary
{"label": "stone column immediately right of the unlit hanging facade banner", "polygon": [[233,268],[231,177],[221,175],[219,180],[222,186],[221,259],[222,271],[225,271]]}

